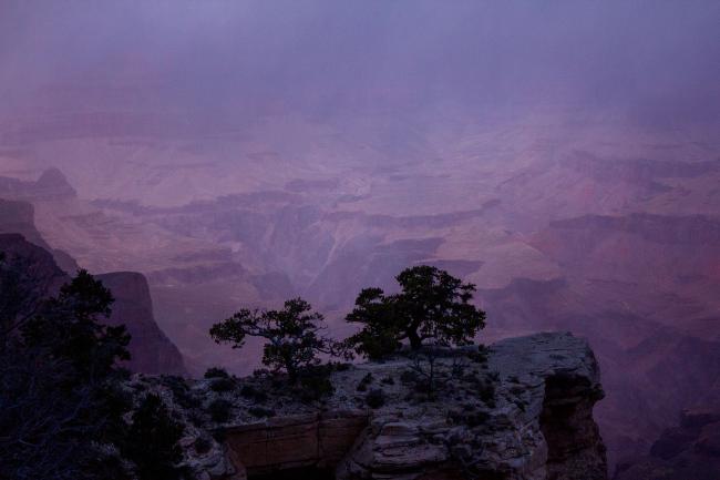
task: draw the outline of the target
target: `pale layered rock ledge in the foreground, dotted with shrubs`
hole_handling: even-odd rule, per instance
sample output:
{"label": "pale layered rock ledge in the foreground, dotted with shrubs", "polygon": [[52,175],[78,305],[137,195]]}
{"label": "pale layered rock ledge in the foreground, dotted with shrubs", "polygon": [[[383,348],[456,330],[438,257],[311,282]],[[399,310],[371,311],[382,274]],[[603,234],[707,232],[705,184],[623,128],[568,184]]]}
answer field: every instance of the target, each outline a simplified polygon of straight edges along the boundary
{"label": "pale layered rock ledge in the foreground, dotted with shrubs", "polygon": [[[593,419],[603,389],[585,339],[537,334],[494,344],[486,358],[445,353],[434,392],[415,366],[399,357],[343,368],[329,398],[305,402],[263,375],[135,381],[187,420],[186,464],[204,479],[607,479]],[[218,401],[222,423],[205,413]]]}

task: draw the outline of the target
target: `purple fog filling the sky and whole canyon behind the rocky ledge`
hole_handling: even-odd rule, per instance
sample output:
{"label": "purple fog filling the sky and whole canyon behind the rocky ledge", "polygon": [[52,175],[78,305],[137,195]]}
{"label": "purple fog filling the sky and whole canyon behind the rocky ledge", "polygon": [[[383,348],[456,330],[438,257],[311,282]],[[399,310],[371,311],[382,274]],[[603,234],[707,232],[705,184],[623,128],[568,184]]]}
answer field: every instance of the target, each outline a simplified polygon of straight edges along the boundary
{"label": "purple fog filling the sky and whole canyon behind the rocky ledge", "polygon": [[430,264],[482,343],[588,338],[610,463],[718,410],[720,3],[41,4],[0,4],[0,233],[142,273],[168,369],[250,374],[208,328],[292,296],[341,338]]}

